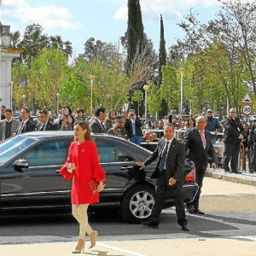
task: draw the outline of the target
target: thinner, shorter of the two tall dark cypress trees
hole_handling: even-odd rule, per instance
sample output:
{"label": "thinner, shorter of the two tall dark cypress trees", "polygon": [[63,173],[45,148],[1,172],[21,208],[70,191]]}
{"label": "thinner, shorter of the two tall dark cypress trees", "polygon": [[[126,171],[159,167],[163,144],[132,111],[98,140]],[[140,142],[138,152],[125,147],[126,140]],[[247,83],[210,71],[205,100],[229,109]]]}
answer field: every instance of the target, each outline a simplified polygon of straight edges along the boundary
{"label": "thinner, shorter of the two tall dark cypress trees", "polygon": [[[159,75],[158,75],[158,88],[162,84],[162,66],[166,66],[166,40],[164,31],[164,21],[162,15],[160,15],[160,46],[159,46]],[[168,106],[166,100],[162,99],[160,117],[163,117],[168,112]]]}

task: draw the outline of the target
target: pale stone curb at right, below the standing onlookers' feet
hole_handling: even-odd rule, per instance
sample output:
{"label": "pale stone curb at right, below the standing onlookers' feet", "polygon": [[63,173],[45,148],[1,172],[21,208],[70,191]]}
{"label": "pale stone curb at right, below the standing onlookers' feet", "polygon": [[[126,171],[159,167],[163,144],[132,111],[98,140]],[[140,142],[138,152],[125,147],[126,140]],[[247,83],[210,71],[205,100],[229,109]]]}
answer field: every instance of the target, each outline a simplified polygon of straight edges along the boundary
{"label": "pale stone curb at right, below the standing onlookers' feet", "polygon": [[217,169],[213,171],[213,169],[208,168],[206,172],[206,177],[217,178],[220,180],[232,182],[232,183],[241,183],[245,185],[256,186],[256,175],[254,174],[235,174],[235,173],[225,173],[223,170]]}

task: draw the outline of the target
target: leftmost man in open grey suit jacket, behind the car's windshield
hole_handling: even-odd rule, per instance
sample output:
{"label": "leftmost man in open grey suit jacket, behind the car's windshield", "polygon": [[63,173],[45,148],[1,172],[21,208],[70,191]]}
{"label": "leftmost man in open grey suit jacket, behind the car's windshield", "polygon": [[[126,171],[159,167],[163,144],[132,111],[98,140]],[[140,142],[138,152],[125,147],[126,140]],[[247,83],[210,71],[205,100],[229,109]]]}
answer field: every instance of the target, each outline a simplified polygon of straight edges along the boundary
{"label": "leftmost man in open grey suit jacket, behind the car's windshield", "polygon": [[12,137],[17,130],[19,121],[13,119],[13,112],[11,109],[6,109],[5,119],[0,121],[0,140],[5,140]]}

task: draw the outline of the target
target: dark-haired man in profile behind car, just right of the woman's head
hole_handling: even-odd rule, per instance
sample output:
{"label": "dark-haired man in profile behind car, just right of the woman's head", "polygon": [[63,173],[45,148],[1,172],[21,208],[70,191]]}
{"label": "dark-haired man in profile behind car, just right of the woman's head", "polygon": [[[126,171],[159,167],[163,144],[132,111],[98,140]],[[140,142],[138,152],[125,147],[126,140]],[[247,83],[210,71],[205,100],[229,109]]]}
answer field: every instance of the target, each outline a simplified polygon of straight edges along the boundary
{"label": "dark-haired man in profile behind car, just right of the woman's head", "polygon": [[102,123],[107,116],[106,108],[104,107],[97,108],[94,114],[95,114],[95,117],[91,119],[90,125],[89,125],[90,131],[93,133],[107,132],[105,131],[104,125]]}

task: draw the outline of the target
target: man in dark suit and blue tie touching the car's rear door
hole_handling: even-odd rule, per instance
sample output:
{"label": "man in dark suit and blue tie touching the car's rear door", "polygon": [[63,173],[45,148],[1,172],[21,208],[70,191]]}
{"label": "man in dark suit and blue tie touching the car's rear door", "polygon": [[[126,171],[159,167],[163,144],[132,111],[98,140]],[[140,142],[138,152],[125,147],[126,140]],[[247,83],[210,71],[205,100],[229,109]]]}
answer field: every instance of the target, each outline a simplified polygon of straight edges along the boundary
{"label": "man in dark suit and blue tie touching the car's rear door", "polygon": [[175,198],[177,224],[182,227],[182,230],[189,231],[183,203],[185,148],[183,143],[174,137],[172,124],[165,125],[164,137],[160,139],[153,154],[144,162],[137,162],[137,166],[141,169],[145,168],[156,159],[157,165],[151,176],[157,178],[156,198],[150,220],[145,223],[145,226],[152,229],[158,228],[163,201],[170,189]]}

